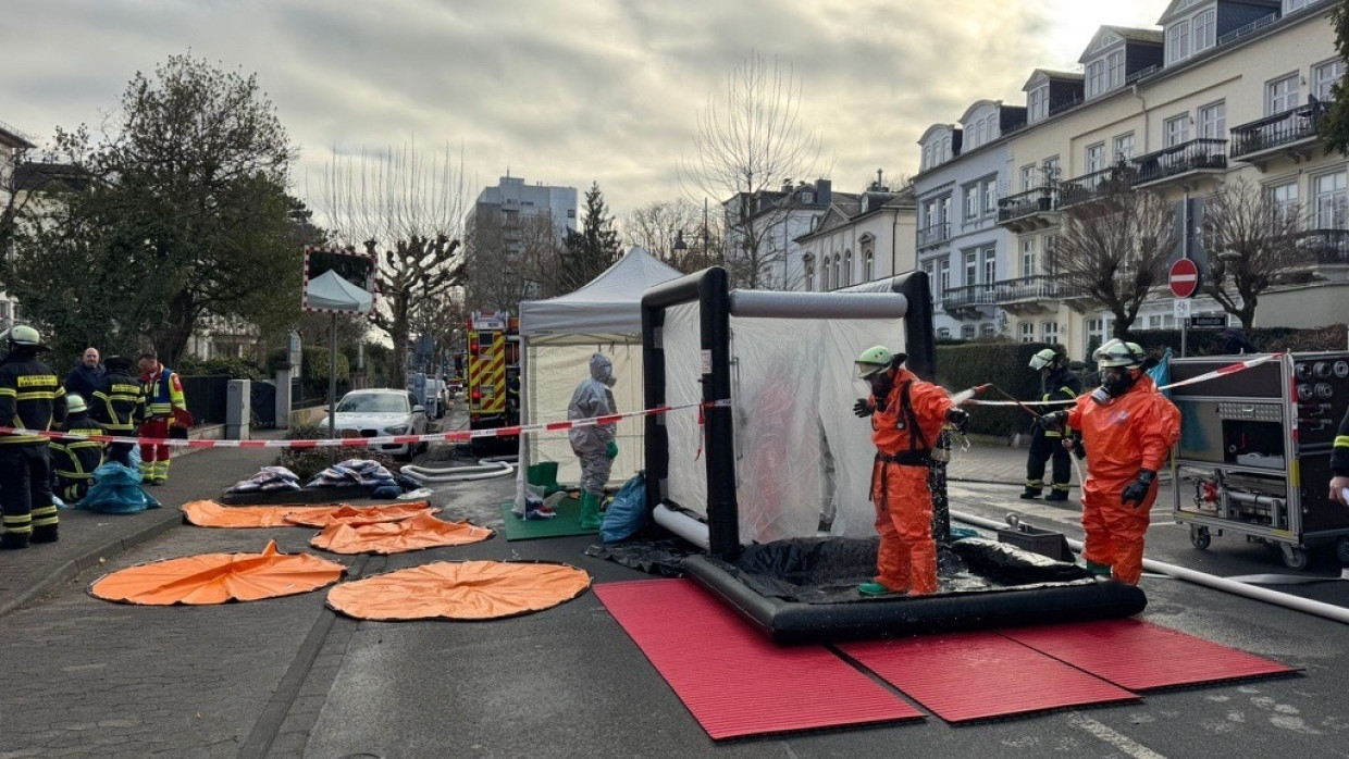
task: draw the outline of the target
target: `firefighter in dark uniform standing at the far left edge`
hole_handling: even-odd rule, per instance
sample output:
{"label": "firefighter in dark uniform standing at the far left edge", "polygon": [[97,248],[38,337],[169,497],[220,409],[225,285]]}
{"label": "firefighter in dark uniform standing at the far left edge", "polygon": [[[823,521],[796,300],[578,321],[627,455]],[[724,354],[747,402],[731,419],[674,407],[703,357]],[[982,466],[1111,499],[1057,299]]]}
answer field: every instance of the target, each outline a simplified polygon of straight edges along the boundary
{"label": "firefighter in dark uniform standing at the far left edge", "polygon": [[[0,426],[50,431],[66,419],[61,377],[38,360],[46,351],[28,325],[9,329],[9,353],[0,361]],[[28,541],[57,541],[57,507],[51,503],[51,460],[39,434],[0,435],[0,549],[26,549]]]}

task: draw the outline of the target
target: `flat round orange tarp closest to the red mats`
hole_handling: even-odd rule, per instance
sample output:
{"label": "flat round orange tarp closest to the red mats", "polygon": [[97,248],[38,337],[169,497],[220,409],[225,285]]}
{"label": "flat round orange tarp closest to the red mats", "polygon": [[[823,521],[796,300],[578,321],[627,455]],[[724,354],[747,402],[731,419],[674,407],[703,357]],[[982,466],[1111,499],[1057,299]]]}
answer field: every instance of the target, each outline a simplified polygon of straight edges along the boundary
{"label": "flat round orange tarp closest to the red mats", "polygon": [[356,619],[499,619],[556,607],[590,588],[590,574],[565,564],[437,561],[343,582],[328,592],[333,611]]}

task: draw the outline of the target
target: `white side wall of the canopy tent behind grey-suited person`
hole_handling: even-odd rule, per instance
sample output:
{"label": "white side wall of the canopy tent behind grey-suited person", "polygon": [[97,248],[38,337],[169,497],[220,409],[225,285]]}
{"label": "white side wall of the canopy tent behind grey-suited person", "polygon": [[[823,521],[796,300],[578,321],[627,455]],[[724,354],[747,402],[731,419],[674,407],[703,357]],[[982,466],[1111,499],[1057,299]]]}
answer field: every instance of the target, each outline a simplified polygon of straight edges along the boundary
{"label": "white side wall of the canopy tent behind grey-suited person", "polygon": [[[614,363],[614,376],[618,377],[611,388],[614,402],[618,403],[615,411],[643,408],[641,334],[533,336],[526,341],[525,363],[529,376],[521,383],[526,394],[522,423],[565,419],[572,392],[590,376],[590,359],[595,353],[603,353]],[[645,468],[645,423],[642,417],[618,423],[618,458],[608,475],[611,485],[622,485],[638,469]],[[527,473],[529,464],[557,461],[558,483],[580,481],[581,468],[565,431],[522,437],[522,477]]]}

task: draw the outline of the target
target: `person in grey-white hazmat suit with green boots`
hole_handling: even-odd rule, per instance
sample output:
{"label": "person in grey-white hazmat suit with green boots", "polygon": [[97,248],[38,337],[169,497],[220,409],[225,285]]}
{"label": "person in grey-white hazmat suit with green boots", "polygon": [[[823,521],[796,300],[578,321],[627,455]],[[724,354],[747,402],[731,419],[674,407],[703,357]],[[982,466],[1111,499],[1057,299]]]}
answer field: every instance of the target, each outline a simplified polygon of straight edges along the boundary
{"label": "person in grey-white hazmat suit with green boots", "polygon": [[[572,392],[567,407],[568,419],[590,419],[618,413],[614,403],[614,363],[603,353],[591,356],[591,376],[581,380]],[[598,530],[603,519],[599,515],[608,472],[618,456],[616,431],[612,425],[587,425],[572,427],[567,433],[572,453],[581,460],[581,527]]]}

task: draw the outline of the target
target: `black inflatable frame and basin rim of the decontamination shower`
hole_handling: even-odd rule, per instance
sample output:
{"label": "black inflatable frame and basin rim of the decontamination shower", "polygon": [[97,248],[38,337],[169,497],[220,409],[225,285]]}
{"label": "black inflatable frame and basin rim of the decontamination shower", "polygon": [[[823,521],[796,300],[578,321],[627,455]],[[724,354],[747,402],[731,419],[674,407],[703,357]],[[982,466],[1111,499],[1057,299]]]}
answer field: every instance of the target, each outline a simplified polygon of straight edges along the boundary
{"label": "black inflatable frame and basin rim of the decontamination shower", "polygon": [[[855,307],[865,295],[902,295],[902,318],[908,368],[932,379],[935,368],[932,299],[927,274],[913,271],[890,280],[854,289],[853,293],[772,293],[757,294],[759,305],[772,301],[792,307],[778,309],[776,318],[857,318],[867,315]],[[750,298],[742,298],[750,301]],[[741,582],[727,564],[741,551],[739,507],[735,500],[735,450],[731,408],[714,402],[731,396],[730,317],[769,315],[764,309],[743,314],[735,307],[726,271],[712,267],[665,282],[642,297],[642,387],[648,408],[664,406],[665,352],[660,332],[665,310],[691,302],[700,303],[700,348],[711,356],[711,371],[703,375],[704,461],[707,466],[708,549],[712,558],[691,557],[685,570],[730,604],[741,616],[780,643],[842,640],[911,635],[947,630],[1010,627],[1045,621],[1114,619],[1143,611],[1147,597],[1137,588],[1114,581],[1063,584],[1031,589],[935,595],[893,601],[805,604],[765,597]],[[772,310],[772,309],[769,309]],[[870,314],[874,317],[876,314]],[[664,418],[646,417],[646,503],[654,508],[665,500],[669,477],[669,437]],[[720,559],[720,561],[716,561]]]}

